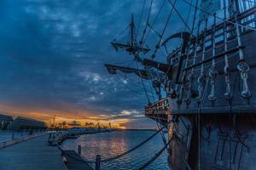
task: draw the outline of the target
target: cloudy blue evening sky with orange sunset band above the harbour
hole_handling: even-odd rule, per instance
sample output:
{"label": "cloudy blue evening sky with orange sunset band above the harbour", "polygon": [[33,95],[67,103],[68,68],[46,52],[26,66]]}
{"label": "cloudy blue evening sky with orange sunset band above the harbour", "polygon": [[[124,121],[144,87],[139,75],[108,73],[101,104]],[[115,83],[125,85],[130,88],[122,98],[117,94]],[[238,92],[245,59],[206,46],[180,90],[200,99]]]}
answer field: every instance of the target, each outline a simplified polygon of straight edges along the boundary
{"label": "cloudy blue evening sky with orange sunset band above the harbour", "polygon": [[[154,1],[151,22],[163,2]],[[162,31],[170,8],[165,3],[156,30]],[[104,68],[106,63],[135,65],[129,54],[116,52],[110,42],[129,24],[131,13],[138,26],[142,9],[143,0],[1,0],[0,112],[45,122],[56,116],[130,128],[156,127],[144,116],[148,100],[141,80],[121,73],[109,75]],[[177,9],[186,18],[189,7],[179,2]],[[184,25],[173,12],[165,36],[181,29]],[[150,34],[148,47],[154,48],[158,38]],[[166,56],[158,55],[165,62]],[[149,82],[145,84],[149,90]],[[154,93],[148,95],[153,100]]]}

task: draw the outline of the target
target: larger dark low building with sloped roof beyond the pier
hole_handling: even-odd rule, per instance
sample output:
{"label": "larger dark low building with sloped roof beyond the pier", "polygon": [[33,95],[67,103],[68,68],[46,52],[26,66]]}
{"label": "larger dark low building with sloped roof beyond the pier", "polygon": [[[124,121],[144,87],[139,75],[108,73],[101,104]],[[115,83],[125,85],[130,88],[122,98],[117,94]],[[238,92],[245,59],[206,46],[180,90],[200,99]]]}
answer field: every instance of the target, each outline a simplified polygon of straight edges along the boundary
{"label": "larger dark low building with sloped roof beyond the pier", "polygon": [[21,129],[44,129],[46,125],[44,122],[40,122],[34,119],[18,116],[13,122],[10,122],[7,126],[8,130],[21,130]]}

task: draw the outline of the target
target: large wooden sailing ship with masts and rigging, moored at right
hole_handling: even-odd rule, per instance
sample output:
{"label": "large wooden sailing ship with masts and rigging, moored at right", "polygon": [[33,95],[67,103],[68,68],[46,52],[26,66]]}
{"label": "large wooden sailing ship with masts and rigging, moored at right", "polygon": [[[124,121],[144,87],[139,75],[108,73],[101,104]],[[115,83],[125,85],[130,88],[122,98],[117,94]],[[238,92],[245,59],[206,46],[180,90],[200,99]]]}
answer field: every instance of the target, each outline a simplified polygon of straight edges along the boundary
{"label": "large wooden sailing ship with masts and rigging, moored at right", "polygon": [[[153,1],[146,2],[149,18]],[[255,170],[256,1],[165,2],[181,19],[176,3],[188,4],[194,9],[189,12],[193,22],[183,19],[185,31],[172,35],[157,33],[159,42],[148,48],[145,39],[155,31],[152,22],[147,18],[138,38],[132,15],[129,41],[114,39],[111,44],[141,66],[106,64],[108,72],[135,74],[145,92],[146,81],[154,89],[158,98],[148,99],[145,116],[166,126],[172,170]],[[168,51],[166,62],[158,61],[158,50],[174,39],[181,42],[178,48]]]}

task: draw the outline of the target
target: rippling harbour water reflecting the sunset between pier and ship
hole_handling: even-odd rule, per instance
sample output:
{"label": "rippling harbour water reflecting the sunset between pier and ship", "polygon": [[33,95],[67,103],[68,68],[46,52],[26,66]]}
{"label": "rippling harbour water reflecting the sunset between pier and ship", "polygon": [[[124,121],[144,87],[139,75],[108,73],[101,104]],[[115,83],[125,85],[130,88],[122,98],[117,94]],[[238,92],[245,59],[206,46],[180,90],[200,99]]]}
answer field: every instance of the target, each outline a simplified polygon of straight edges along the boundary
{"label": "rippling harbour water reflecting the sunset between pier and ship", "polygon": [[[148,131],[116,131],[112,133],[87,134],[80,136],[79,139],[65,140],[62,147],[63,149],[77,150],[80,144],[84,158],[94,161],[97,154],[100,154],[102,159],[105,159],[130,150],[153,133]],[[101,164],[101,167],[104,170],[137,169],[143,163],[150,160],[163,146],[160,134],[156,135],[141,148],[117,160],[104,162]],[[146,169],[169,170],[166,150]]]}

